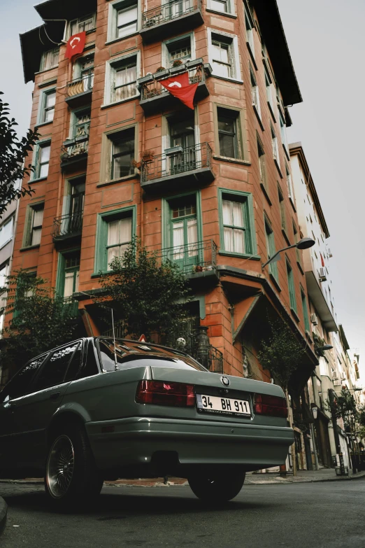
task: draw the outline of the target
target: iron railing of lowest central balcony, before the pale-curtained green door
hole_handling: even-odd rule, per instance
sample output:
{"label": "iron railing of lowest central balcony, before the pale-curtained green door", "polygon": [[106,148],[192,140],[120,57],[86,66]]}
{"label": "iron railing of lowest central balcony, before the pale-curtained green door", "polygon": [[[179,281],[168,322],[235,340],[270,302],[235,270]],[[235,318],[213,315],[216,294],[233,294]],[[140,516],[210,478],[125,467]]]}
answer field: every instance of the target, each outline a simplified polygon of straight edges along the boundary
{"label": "iron railing of lowest central balcony, before the pale-curtained green door", "polygon": [[176,262],[185,274],[213,271],[217,267],[217,244],[212,239],[162,248],[158,258]]}

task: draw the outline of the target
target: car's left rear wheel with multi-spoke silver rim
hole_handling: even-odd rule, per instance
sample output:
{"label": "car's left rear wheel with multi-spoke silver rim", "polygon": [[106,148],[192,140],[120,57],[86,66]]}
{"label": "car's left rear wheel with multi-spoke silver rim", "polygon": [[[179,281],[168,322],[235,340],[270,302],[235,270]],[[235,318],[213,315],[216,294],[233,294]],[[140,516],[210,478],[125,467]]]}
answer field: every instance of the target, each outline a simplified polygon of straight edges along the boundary
{"label": "car's left rear wheel with multi-spoke silver rim", "polygon": [[85,428],[66,426],[55,433],[45,464],[45,492],[52,504],[60,509],[85,504],[102,486]]}

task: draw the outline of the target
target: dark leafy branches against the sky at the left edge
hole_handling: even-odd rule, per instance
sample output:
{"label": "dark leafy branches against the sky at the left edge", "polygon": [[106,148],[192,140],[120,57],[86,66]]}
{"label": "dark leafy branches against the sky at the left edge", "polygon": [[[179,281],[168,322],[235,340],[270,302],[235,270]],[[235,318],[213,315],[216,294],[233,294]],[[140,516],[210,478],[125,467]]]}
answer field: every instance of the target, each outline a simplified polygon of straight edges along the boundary
{"label": "dark leafy branches against the sky at the left edge", "polygon": [[14,129],[17,122],[9,118],[9,113],[8,103],[0,98],[0,218],[10,202],[34,192],[29,183],[25,187],[19,182],[34,171],[31,164],[24,166],[24,160],[33,150],[38,133],[29,129],[27,136],[19,140]]}

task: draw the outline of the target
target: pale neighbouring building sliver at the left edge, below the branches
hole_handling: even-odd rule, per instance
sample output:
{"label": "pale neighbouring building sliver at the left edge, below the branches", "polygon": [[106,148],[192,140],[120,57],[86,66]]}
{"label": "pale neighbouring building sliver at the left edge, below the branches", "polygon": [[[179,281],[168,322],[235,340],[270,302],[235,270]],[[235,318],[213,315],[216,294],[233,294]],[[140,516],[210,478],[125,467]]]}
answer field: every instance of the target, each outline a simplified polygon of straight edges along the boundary
{"label": "pale neighbouring building sliver at the left edge, below the branches", "polygon": [[[6,276],[10,274],[12,267],[14,234],[17,223],[17,211],[19,200],[15,199],[8,204],[6,211],[0,219],[0,288],[6,285]],[[0,295],[0,308],[6,307],[6,294]],[[5,314],[0,314],[0,337],[3,329]],[[7,381],[7,375],[1,363],[0,356],[0,387]]]}

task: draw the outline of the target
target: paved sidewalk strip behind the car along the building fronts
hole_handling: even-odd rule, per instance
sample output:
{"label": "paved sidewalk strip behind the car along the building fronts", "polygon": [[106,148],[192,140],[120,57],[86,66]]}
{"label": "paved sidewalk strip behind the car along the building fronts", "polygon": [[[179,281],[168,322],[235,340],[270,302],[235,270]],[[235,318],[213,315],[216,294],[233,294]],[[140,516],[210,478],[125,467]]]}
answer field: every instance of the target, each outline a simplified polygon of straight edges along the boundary
{"label": "paved sidewalk strip behind the car along the building fronts", "polygon": [[[287,474],[287,477],[280,477],[278,472],[267,472],[263,474],[254,474],[248,472],[245,479],[245,485],[271,485],[271,484],[294,484],[306,482],[343,482],[350,479],[359,479],[365,477],[364,472],[352,474],[349,471],[348,476],[336,476],[334,468],[322,468],[321,470],[299,470],[294,477],[292,474]],[[16,483],[16,484],[43,484],[41,478],[26,478],[26,479],[0,479],[1,482]],[[163,477],[151,479],[117,479],[114,482],[104,482],[104,485],[124,487],[168,487],[169,485],[183,486],[188,485],[187,480],[180,477],[169,477],[168,482],[164,484]]]}

